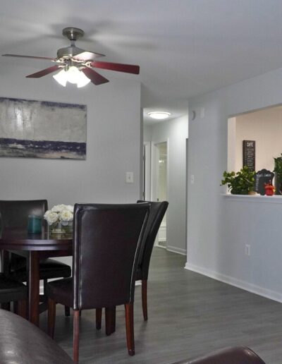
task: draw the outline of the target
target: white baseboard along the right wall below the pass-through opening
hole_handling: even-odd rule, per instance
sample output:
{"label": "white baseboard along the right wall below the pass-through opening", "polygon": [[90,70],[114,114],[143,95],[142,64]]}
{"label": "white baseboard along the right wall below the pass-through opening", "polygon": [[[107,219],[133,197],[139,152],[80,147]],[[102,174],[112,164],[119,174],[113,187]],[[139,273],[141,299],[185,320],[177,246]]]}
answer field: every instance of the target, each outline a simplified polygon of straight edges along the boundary
{"label": "white baseboard along the right wall below the pass-through opening", "polygon": [[192,272],[203,274],[204,276],[216,279],[217,281],[222,281],[223,283],[231,284],[231,286],[235,286],[240,289],[244,289],[245,291],[249,291],[251,293],[258,294],[259,296],[270,298],[271,300],[282,303],[282,294],[276,291],[271,291],[270,289],[265,289],[261,286],[250,284],[246,281],[241,281],[240,279],[235,279],[225,274],[213,272],[209,269],[197,267],[196,265],[191,265],[188,262],[186,262],[185,264],[185,269],[191,270]]}

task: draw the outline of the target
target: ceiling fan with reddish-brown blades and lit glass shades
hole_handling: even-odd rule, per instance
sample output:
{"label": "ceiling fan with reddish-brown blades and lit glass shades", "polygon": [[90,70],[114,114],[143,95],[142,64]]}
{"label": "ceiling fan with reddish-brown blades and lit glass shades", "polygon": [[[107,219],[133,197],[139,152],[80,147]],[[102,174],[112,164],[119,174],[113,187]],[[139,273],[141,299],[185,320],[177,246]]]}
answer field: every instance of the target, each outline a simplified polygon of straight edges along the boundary
{"label": "ceiling fan with reddish-brown blades and lit glass shades", "polygon": [[64,28],[63,35],[68,37],[71,41],[69,47],[60,48],[57,51],[56,58],[40,57],[40,56],[22,56],[20,54],[2,54],[8,57],[20,57],[27,59],[47,59],[56,63],[54,66],[45,68],[42,71],[27,75],[27,78],[40,78],[44,75],[49,75],[55,71],[60,71],[53,77],[61,85],[66,86],[67,81],[76,83],[78,87],[87,85],[87,83],[94,83],[94,85],[101,85],[107,83],[109,80],[104,78],[92,68],[103,68],[111,71],[119,71],[125,73],[139,74],[140,67],[132,64],[111,63],[96,61],[97,58],[104,56],[104,54],[94,53],[92,51],[85,51],[75,46],[75,41],[83,37],[84,31],[79,28]]}

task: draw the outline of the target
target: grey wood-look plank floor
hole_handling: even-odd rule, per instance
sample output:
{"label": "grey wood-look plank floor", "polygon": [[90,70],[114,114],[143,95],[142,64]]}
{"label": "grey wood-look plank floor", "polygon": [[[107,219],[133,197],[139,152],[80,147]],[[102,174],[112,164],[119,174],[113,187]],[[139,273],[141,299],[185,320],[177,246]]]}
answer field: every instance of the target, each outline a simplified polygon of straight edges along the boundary
{"label": "grey wood-look plank floor", "polygon": [[[267,364],[282,363],[282,305],[184,269],[185,256],[154,248],[148,281],[148,321],[135,289],[135,356],[127,354],[123,306],[116,332],[95,328],[94,310],[82,312],[80,363],[159,363],[192,358],[226,346],[249,346]],[[57,305],[55,340],[73,354],[72,317]],[[40,317],[47,329],[47,314]]]}

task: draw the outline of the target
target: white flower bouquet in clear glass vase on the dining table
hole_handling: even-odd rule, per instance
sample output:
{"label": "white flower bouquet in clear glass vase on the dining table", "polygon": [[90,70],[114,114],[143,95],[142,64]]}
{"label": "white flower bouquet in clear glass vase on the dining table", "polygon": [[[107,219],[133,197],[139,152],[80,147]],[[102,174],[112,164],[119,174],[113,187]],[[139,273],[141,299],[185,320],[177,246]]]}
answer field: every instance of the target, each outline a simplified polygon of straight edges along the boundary
{"label": "white flower bouquet in clear glass vase on the dining table", "polygon": [[54,233],[66,233],[63,229],[66,226],[73,226],[73,206],[71,205],[56,205],[47,210],[44,214],[44,219],[47,220],[48,225],[53,229]]}

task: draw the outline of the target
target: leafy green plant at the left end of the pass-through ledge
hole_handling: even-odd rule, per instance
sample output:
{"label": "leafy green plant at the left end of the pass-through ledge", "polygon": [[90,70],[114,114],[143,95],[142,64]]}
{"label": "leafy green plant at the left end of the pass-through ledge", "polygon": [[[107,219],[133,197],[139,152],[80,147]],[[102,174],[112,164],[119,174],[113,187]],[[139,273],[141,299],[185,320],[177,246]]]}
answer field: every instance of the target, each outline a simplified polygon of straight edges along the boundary
{"label": "leafy green plant at the left end of the pass-through ledge", "polygon": [[254,189],[255,185],[255,171],[250,171],[248,166],[243,166],[238,172],[223,172],[221,186],[228,186],[228,190],[233,195],[247,195]]}

